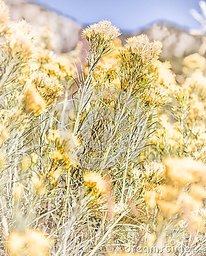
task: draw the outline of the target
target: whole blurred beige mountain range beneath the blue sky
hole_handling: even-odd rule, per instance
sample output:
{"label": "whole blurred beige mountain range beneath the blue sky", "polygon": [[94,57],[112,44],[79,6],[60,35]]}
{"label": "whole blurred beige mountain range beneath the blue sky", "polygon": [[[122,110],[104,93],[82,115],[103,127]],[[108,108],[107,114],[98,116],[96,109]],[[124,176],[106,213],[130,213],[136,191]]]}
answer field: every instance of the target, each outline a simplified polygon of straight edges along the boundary
{"label": "whole blurred beige mountain range beneath the blue sky", "polygon": [[[65,16],[58,15],[53,11],[30,3],[27,0],[5,0],[11,10],[11,19],[26,19],[36,28],[45,41],[46,35],[51,35],[51,42],[47,47],[56,53],[68,52],[74,49],[78,41],[83,41],[83,47],[87,47],[85,40],[81,38],[82,27]],[[146,30],[138,34],[147,35],[150,40],[160,40],[163,44],[161,59],[169,60],[175,72],[179,72],[184,56],[198,52],[202,42],[202,36],[191,35],[189,32],[181,30],[166,23],[153,24]],[[122,34],[120,39],[123,44],[125,39],[137,34]]]}

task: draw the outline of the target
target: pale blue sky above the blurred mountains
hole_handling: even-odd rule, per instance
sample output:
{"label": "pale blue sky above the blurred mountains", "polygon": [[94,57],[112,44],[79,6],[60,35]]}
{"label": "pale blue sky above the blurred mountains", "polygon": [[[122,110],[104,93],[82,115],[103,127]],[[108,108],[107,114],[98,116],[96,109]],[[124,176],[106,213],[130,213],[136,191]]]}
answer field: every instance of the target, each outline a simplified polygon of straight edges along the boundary
{"label": "pale blue sky above the blurred mountains", "polygon": [[69,16],[82,26],[111,20],[123,32],[138,32],[155,21],[167,21],[187,30],[200,24],[190,14],[200,13],[199,0],[31,0]]}

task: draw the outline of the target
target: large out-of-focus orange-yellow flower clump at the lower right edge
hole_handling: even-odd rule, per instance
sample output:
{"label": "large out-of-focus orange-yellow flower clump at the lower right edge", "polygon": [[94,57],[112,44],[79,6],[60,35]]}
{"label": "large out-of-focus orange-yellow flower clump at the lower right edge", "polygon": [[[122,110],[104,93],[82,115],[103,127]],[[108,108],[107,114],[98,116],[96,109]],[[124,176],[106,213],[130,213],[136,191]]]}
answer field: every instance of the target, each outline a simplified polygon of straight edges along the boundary
{"label": "large out-of-focus orange-yellow flower clump at the lower right edge", "polygon": [[[201,199],[206,198],[206,166],[190,158],[166,158],[163,163],[166,167],[165,184],[154,185],[150,181],[153,185],[148,185],[144,192],[145,204],[150,209],[157,206],[162,220],[178,214],[188,223],[191,233],[204,232],[205,211]],[[188,184],[189,189],[186,189]]]}

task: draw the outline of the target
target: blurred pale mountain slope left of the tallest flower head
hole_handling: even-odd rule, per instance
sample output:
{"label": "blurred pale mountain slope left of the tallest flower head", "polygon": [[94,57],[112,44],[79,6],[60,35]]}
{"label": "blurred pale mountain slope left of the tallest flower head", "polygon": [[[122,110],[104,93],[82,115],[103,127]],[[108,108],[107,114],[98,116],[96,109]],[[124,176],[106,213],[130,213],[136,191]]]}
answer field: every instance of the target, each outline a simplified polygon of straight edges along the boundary
{"label": "blurred pale mountain slope left of the tallest flower head", "polygon": [[[48,48],[54,52],[68,52],[77,45],[81,26],[72,19],[27,0],[5,0],[5,2],[11,10],[11,19],[27,20],[36,29],[37,34],[45,38]],[[51,36],[51,42],[47,42],[47,35]]]}

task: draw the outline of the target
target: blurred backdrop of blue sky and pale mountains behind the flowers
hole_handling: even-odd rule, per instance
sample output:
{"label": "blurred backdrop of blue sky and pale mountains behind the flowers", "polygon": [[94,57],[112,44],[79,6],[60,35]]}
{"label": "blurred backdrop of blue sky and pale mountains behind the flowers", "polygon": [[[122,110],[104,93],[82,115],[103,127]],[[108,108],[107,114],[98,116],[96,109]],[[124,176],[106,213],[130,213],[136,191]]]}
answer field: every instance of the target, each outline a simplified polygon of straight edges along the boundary
{"label": "blurred backdrop of blue sky and pale mountains behind the flowers", "polygon": [[[86,47],[83,27],[101,19],[111,20],[123,34],[122,43],[132,35],[146,34],[163,43],[162,60],[169,60],[176,73],[182,59],[194,52],[204,55],[206,4],[198,0],[5,0],[11,19],[26,19],[55,53]],[[79,42],[82,44],[80,45]]]}

